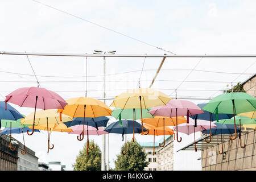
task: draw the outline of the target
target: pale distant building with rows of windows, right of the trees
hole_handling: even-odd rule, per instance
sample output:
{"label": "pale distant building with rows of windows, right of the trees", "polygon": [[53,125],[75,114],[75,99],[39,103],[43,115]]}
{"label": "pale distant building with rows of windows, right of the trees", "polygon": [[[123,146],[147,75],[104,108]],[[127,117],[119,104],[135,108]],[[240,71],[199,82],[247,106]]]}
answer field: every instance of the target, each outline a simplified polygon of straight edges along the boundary
{"label": "pale distant building with rows of windows, right of the trees", "polygon": [[149,162],[145,171],[173,171],[174,170],[174,139],[173,136],[165,138],[165,146],[159,147],[159,143],[163,145],[163,138],[159,142],[155,142],[155,154],[153,155],[154,142],[139,143],[147,154],[146,160]]}

